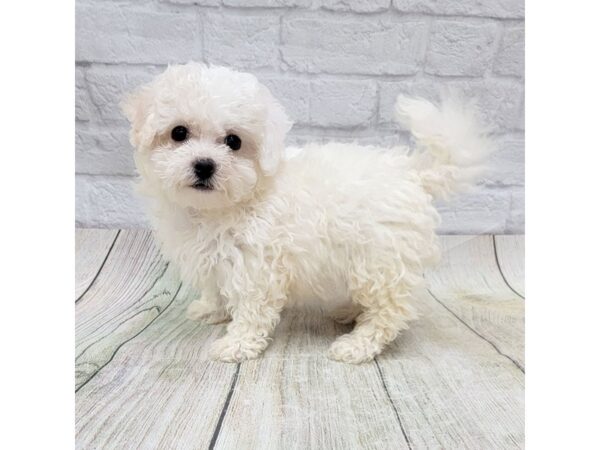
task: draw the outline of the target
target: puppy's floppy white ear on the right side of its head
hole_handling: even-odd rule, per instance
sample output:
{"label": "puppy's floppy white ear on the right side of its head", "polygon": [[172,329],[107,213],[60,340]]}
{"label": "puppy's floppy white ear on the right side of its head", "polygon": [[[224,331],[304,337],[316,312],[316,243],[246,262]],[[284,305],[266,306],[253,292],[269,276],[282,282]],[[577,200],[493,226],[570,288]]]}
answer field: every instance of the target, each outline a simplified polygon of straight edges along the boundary
{"label": "puppy's floppy white ear on the right side of its head", "polygon": [[288,119],[283,106],[275,100],[265,86],[260,86],[260,96],[265,102],[267,111],[258,162],[266,175],[273,175],[279,167],[285,135],[292,128],[292,122]]}

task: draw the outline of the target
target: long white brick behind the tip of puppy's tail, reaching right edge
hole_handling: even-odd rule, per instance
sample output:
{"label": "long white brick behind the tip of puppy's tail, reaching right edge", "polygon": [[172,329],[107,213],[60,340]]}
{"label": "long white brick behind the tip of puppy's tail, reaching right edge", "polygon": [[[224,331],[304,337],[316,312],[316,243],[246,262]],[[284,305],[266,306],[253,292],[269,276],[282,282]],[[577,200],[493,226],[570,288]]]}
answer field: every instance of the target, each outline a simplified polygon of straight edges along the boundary
{"label": "long white brick behind the tip of puppy's tail, reaching right edge", "polygon": [[417,95],[436,100],[440,92],[454,90],[466,98],[475,98],[482,120],[494,131],[523,129],[523,85],[513,80],[419,80],[380,82],[379,118],[393,122],[394,103],[398,94]]}

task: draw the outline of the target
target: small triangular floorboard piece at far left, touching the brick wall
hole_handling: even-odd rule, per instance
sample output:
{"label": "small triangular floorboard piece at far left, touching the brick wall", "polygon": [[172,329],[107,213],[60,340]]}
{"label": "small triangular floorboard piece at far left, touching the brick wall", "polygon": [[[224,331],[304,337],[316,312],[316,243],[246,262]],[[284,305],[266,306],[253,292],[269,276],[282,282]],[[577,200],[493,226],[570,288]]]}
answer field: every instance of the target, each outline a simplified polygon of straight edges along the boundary
{"label": "small triangular floorboard piece at far left, touching the brick wall", "polygon": [[75,300],[91,286],[118,234],[119,230],[92,229],[75,233]]}

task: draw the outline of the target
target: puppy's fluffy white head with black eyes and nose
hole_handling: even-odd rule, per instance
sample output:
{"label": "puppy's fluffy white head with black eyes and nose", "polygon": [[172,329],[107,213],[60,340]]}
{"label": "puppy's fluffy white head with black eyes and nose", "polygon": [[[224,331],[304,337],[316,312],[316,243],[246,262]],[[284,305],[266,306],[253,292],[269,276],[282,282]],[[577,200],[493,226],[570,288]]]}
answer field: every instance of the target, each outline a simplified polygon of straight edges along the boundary
{"label": "puppy's fluffy white head with black eyes and nose", "polygon": [[291,123],[250,74],[170,66],[123,103],[145,182],[195,209],[232,206],[275,174]]}

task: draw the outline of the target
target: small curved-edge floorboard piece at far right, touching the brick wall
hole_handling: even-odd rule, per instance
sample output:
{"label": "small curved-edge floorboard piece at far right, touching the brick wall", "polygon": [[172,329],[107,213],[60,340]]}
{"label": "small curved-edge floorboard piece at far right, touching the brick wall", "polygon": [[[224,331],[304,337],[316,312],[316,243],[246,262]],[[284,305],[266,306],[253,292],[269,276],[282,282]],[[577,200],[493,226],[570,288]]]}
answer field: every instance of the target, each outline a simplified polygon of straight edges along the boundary
{"label": "small curved-edge floorboard piece at far right, touching the brick wall", "polygon": [[506,283],[525,298],[525,236],[494,236],[498,267]]}

